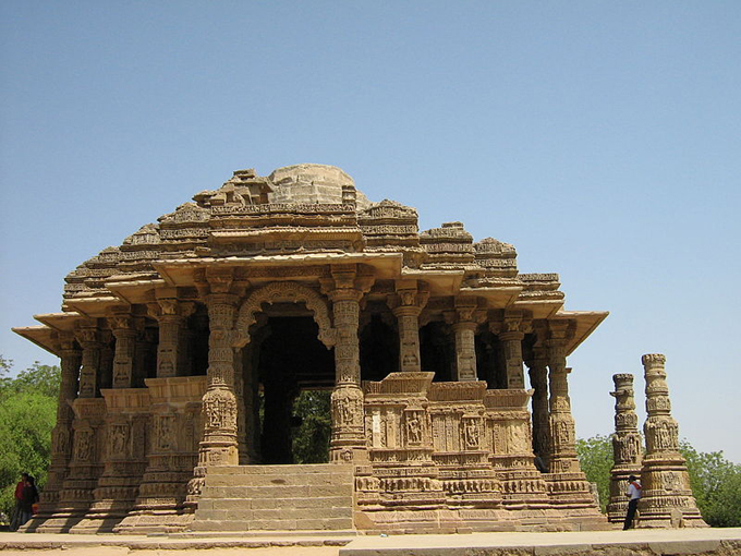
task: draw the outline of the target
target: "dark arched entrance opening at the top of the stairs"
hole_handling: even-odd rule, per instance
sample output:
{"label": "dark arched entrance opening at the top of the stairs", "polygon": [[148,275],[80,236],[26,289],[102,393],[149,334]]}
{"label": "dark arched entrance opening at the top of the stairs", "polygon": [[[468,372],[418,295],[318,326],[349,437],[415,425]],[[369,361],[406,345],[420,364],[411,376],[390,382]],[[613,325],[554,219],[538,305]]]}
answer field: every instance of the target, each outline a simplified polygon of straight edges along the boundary
{"label": "dark arched entrance opening at the top of the stairs", "polygon": [[[260,461],[328,461],[335,354],[318,340],[318,326],[312,316],[302,315],[299,304],[287,305],[290,311],[270,307],[258,347],[260,426],[256,440]],[[283,316],[286,313],[295,316]]]}

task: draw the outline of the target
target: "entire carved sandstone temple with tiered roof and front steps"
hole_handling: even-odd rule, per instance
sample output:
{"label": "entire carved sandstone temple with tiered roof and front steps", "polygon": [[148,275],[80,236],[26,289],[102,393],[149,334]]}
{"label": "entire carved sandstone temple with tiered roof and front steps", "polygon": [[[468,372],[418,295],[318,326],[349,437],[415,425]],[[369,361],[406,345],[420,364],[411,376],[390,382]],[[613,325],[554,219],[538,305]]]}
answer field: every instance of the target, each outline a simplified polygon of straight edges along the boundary
{"label": "entire carved sandstone temple with tiered roof and front steps", "polygon": [[[42,532],[604,529],[567,356],[607,316],[342,170],[240,170],[15,331],[61,359]],[[525,368],[527,380],[525,379]],[[331,391],[324,464],[292,403]]]}

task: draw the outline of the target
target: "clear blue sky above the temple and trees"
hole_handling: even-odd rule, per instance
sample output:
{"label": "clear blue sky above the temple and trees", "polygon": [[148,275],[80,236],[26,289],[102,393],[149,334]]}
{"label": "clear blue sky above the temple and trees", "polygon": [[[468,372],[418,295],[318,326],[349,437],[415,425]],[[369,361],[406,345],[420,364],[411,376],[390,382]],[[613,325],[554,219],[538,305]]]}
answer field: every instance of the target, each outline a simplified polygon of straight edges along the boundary
{"label": "clear blue sky above the temple and trees", "polygon": [[610,316],[578,434],[667,355],[680,434],[741,462],[738,1],[0,3],[0,353],[62,278],[241,168],[339,166]]}

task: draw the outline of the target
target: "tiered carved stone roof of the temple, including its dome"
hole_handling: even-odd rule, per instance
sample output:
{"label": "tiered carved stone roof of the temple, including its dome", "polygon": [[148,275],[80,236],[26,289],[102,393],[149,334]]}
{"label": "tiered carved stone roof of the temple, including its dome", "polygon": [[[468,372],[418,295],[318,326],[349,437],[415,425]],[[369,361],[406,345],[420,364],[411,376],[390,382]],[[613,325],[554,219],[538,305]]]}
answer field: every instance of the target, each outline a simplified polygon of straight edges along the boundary
{"label": "tiered carved stone roof of the temple, including its dome", "polygon": [[459,221],[418,230],[416,209],[370,202],[333,166],[302,164],[269,176],[238,170],[216,190],[146,223],[119,246],[104,249],[65,278],[63,309],[81,299],[108,298],[110,283],[160,280],[168,261],[388,254],[404,271],[458,276],[463,288],[514,287],[523,300],[561,302],[555,274],[520,275],[517,252],[493,238],[475,242]]}

